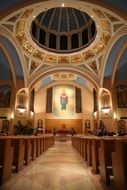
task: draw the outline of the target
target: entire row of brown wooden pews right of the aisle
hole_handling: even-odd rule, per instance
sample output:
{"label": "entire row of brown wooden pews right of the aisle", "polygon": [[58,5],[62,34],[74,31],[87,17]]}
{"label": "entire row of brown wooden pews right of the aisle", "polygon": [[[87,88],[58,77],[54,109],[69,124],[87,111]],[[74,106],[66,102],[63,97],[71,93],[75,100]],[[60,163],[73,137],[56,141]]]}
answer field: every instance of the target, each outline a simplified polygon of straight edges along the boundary
{"label": "entire row of brown wooden pews right of the aisle", "polygon": [[[114,184],[117,184],[118,181],[120,180],[120,176],[123,175],[124,177],[121,177],[122,180],[124,180],[124,183],[127,181],[127,174],[126,174],[127,169],[126,170],[124,169],[123,171],[121,169],[122,167],[127,168],[126,166],[127,149],[125,149],[125,146],[123,145],[121,145],[122,148],[117,148],[118,146],[116,145],[116,143],[120,142],[125,143],[125,140],[127,140],[127,136],[125,137],[74,136],[72,138],[72,145],[81,154],[81,156],[84,158],[88,166],[91,166],[92,173],[93,174],[100,173],[101,181],[106,185],[110,185],[111,176],[113,176],[114,178],[113,180]],[[121,158],[121,155],[126,155],[126,157],[124,156],[123,159]],[[120,165],[118,164],[117,156],[119,159],[122,160],[122,163],[121,161],[119,161]],[[117,167],[120,168],[117,169]],[[118,171],[120,170],[121,170],[121,175],[119,176]],[[119,178],[119,180],[117,180],[117,178]],[[123,182],[121,183],[123,184]],[[115,186],[118,187],[118,185]],[[124,185],[124,187],[126,188],[121,187],[118,190],[127,189],[126,185]]]}

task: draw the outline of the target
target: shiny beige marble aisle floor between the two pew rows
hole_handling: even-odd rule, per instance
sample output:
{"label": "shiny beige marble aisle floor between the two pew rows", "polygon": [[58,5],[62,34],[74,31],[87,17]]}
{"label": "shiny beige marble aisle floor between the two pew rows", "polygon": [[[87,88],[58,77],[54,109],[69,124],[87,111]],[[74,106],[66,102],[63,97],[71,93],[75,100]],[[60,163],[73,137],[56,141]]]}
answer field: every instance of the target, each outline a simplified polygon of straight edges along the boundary
{"label": "shiny beige marble aisle floor between the two pew rows", "polygon": [[71,142],[56,142],[0,190],[103,190]]}

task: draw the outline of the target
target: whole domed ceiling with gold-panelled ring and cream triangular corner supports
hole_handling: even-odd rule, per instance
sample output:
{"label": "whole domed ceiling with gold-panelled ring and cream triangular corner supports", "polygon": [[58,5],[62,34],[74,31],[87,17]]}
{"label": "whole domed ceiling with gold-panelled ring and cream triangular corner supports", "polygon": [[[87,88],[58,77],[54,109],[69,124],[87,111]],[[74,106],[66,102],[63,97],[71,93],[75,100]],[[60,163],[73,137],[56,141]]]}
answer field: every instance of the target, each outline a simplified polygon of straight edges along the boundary
{"label": "whole domed ceiling with gold-panelled ring and cream triangular corner supports", "polygon": [[[110,50],[110,44],[118,38],[117,32],[124,28],[126,20],[92,3],[66,0],[63,8],[61,1],[56,0],[25,6],[6,16],[0,24],[1,35],[16,44],[20,52],[28,85],[43,73],[55,69],[85,74],[99,84],[106,50]],[[88,41],[84,38],[83,42],[85,29]],[[42,44],[40,31],[48,39]],[[78,37],[72,38],[75,34]],[[51,39],[55,39],[55,47]],[[65,42],[61,39],[66,39],[66,48],[61,48],[62,41]],[[72,46],[75,39],[78,39],[78,46]]]}

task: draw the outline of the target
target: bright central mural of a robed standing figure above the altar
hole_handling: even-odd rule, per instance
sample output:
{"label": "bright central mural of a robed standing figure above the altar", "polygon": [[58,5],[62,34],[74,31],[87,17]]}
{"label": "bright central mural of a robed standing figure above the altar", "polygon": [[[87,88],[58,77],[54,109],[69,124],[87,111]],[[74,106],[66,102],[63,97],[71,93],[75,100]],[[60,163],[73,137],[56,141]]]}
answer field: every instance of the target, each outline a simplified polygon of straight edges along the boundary
{"label": "bright central mural of a robed standing figure above the altar", "polygon": [[54,115],[66,117],[74,115],[74,87],[57,85],[53,88]]}

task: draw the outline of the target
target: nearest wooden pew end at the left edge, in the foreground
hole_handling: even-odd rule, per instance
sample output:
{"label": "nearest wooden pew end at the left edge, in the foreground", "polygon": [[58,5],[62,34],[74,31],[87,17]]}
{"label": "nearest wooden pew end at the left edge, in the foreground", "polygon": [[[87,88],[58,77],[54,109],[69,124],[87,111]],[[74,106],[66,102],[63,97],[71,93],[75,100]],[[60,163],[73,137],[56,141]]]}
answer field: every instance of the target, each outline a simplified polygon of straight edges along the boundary
{"label": "nearest wooden pew end at the left edge, in the foreground", "polygon": [[10,138],[0,137],[0,184],[11,177],[13,148]]}

